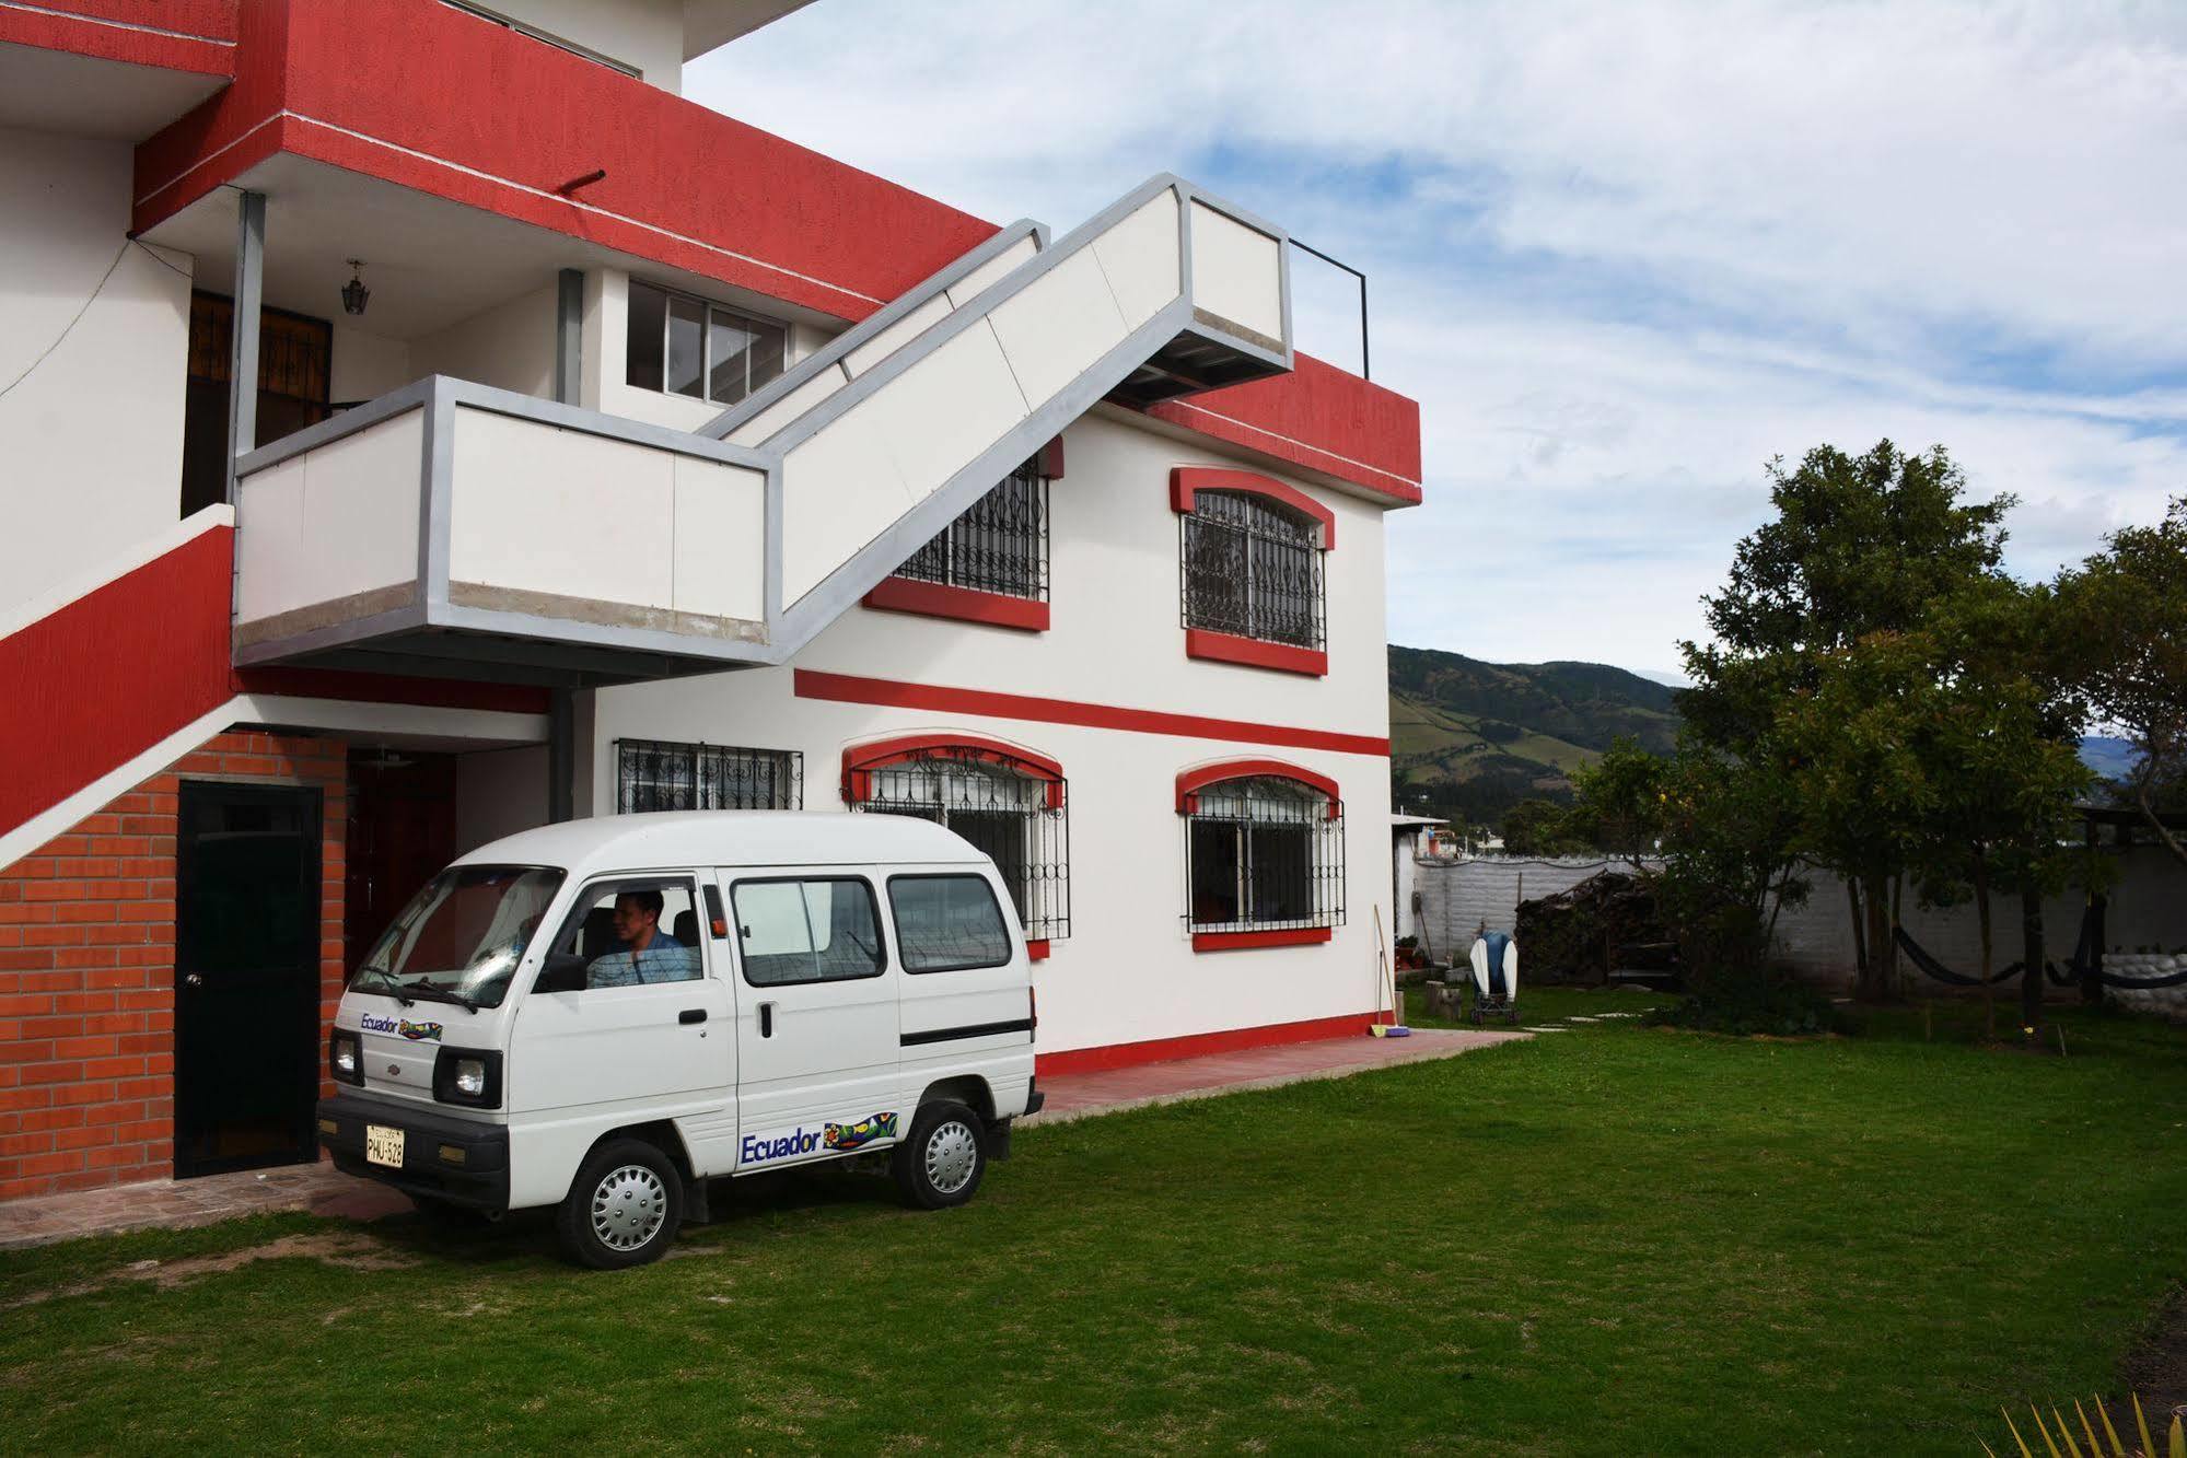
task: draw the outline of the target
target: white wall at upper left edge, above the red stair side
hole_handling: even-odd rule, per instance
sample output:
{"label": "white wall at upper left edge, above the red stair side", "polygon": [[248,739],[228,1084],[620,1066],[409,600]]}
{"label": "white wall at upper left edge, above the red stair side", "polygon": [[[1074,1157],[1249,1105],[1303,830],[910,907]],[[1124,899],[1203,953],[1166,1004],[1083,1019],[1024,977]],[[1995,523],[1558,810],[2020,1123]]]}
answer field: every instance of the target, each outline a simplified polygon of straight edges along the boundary
{"label": "white wall at upper left edge, above the red stair side", "polygon": [[127,144],[0,129],[0,612],[182,509],[192,260],[125,247],[129,179]]}

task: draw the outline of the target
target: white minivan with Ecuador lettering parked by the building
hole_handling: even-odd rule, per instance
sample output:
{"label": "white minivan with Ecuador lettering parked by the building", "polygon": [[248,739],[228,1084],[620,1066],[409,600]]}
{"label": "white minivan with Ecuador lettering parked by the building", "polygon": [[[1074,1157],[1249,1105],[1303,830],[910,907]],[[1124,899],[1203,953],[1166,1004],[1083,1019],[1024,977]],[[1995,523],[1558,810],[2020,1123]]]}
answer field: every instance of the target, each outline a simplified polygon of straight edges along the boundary
{"label": "white minivan with Ecuador lettering parked by the building", "polygon": [[1041,1106],[1032,1027],[1010,894],[938,824],[573,820],[455,861],[356,966],[319,1141],[424,1209],[558,1207],[573,1259],[639,1266],[715,1176],[875,1154],[962,1204]]}

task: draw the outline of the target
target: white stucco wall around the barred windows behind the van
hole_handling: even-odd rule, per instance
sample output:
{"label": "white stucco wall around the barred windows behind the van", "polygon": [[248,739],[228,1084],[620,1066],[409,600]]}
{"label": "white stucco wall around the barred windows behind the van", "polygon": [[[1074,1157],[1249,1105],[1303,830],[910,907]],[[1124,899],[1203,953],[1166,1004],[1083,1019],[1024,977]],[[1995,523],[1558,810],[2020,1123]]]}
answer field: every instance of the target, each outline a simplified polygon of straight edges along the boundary
{"label": "white stucco wall around the barred windows behind the van", "polygon": [[[1389,732],[1382,649],[1382,514],[1293,481],[1336,512],[1325,557],[1330,675],[1185,658],[1170,466],[1218,463],[1107,418],[1065,433],[1050,494],[1052,627],[1021,634],[851,610],[796,667],[1301,730]],[[1220,461],[1236,463],[1236,461]],[[584,713],[584,710],[580,710]],[[1080,728],[796,697],[792,669],[717,673],[593,695],[590,793],[615,802],[619,737],[805,754],[805,807],[840,809],[842,750],[905,732],[971,732],[1056,759],[1069,780],[1072,933],[1034,966],[1041,1047],[1063,1051],[1363,1014],[1378,1006],[1376,909],[1391,936],[1389,761],[1253,741]],[[1194,953],[1185,931],[1181,769],[1279,759],[1334,778],[1345,798],[1347,925],[1321,946]]]}

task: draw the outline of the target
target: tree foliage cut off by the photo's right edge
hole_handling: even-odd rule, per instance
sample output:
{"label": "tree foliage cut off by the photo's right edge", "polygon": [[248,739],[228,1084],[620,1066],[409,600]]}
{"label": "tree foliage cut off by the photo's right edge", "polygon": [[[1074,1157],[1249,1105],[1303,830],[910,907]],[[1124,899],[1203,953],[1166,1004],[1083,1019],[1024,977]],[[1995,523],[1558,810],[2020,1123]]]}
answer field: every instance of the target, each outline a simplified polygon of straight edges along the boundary
{"label": "tree foliage cut off by the photo's right edge", "polygon": [[2172,855],[2187,846],[2159,811],[2187,791],[2187,496],[2154,527],[2126,527],[2058,577],[2065,640],[2093,717],[2126,730],[2139,761],[2126,800]]}

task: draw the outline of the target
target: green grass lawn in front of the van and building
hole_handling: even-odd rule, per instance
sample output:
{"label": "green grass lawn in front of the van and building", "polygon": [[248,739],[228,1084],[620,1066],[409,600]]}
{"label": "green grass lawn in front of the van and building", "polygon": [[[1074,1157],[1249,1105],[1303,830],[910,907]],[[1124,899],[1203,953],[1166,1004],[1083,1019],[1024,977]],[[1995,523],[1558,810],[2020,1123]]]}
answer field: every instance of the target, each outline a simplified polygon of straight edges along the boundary
{"label": "green grass lawn in front of the van and building", "polygon": [[[1647,1003],[1531,997],[1529,1021]],[[562,1266],[536,1222],[280,1218],[0,1255],[0,1432],[1977,1454],[2001,1401],[2108,1390],[2187,1274],[2187,1038],[2071,1016],[2071,1056],[2030,1058],[1964,1032],[1579,1025],[1032,1128],[945,1215],[879,1180],[774,1180],[625,1274]]]}

